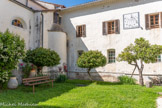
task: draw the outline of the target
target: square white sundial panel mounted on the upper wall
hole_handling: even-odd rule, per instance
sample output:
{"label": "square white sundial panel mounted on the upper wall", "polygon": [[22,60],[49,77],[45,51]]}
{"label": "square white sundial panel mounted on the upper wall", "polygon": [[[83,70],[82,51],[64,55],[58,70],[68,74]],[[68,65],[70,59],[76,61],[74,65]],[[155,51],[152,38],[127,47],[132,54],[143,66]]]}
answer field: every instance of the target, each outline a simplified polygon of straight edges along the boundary
{"label": "square white sundial panel mounted on the upper wall", "polygon": [[139,12],[123,15],[124,29],[133,29],[140,27]]}

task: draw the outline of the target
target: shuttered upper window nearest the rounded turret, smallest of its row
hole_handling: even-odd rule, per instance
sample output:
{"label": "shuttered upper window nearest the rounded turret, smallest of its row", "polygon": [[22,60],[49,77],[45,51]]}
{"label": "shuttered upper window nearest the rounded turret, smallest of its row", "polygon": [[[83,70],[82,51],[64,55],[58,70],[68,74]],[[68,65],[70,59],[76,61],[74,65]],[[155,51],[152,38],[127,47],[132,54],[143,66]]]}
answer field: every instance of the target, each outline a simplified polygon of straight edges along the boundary
{"label": "shuttered upper window nearest the rounded turret, smallest of its row", "polygon": [[76,27],[76,37],[86,37],[86,25]]}

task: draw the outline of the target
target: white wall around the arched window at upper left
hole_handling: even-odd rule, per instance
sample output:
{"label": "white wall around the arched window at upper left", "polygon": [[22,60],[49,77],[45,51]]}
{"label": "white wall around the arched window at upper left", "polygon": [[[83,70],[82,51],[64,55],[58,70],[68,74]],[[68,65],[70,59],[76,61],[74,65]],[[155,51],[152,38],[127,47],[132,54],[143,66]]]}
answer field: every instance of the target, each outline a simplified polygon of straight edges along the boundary
{"label": "white wall around the arched window at upper left", "polygon": [[[8,0],[0,1],[0,13],[0,31],[9,29],[25,40],[27,49],[33,48],[34,13]],[[14,19],[21,19],[24,28],[13,26]]]}

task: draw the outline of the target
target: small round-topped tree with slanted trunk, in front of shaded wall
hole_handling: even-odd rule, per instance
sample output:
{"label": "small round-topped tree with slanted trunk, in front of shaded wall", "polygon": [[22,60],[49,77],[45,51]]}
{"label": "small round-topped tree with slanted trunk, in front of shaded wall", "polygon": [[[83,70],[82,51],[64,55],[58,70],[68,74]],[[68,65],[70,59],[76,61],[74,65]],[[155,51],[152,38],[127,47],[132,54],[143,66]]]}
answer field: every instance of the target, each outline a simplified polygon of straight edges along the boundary
{"label": "small round-topped tree with slanted trunk, in front of shaded wall", "polygon": [[106,65],[106,57],[99,51],[84,52],[77,60],[78,67],[87,68],[87,73],[92,81],[91,69]]}

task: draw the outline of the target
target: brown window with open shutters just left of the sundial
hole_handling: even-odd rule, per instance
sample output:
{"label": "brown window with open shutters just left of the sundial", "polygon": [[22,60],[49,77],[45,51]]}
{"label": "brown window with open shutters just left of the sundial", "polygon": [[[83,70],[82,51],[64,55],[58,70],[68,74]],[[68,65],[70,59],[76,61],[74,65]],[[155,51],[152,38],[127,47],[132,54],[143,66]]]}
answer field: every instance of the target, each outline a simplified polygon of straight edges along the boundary
{"label": "brown window with open shutters just left of the sundial", "polygon": [[103,35],[119,34],[120,32],[119,20],[103,22]]}

